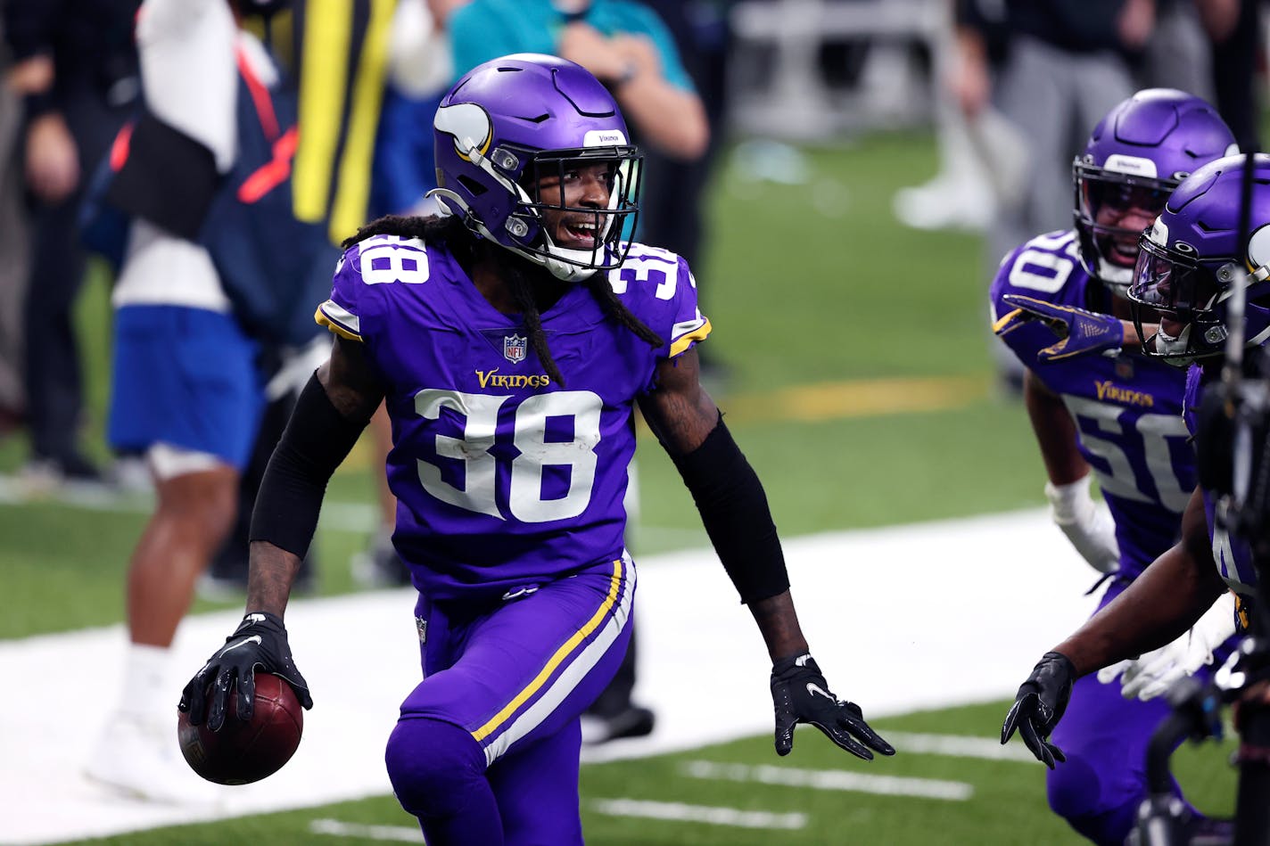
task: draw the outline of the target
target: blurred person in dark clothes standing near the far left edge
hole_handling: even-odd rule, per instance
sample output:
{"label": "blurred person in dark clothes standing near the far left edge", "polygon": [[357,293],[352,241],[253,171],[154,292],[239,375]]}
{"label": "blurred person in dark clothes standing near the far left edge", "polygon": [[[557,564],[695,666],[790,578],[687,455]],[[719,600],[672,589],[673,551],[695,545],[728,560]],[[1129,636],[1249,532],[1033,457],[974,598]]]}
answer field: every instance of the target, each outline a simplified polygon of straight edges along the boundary
{"label": "blurred person in dark clothes standing near the far left edge", "polygon": [[6,0],[10,80],[25,94],[30,276],[23,310],[30,464],[37,479],[98,480],[80,448],[83,376],[72,306],[84,279],[79,206],[137,103],[140,0]]}

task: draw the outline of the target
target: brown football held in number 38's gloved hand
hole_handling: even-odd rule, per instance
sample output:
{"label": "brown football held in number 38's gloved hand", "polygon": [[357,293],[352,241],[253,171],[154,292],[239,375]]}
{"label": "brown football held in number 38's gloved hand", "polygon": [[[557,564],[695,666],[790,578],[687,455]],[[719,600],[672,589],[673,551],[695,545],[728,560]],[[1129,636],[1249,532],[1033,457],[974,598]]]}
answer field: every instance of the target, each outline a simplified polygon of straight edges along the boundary
{"label": "brown football held in number 38's gloved hand", "polygon": [[237,718],[237,692],[230,694],[225,725],[208,730],[207,723],[190,725],[178,711],[177,739],[190,769],[216,784],[250,784],[273,775],[300,746],[305,713],[291,685],[273,673],[255,675],[255,710],[251,719]]}

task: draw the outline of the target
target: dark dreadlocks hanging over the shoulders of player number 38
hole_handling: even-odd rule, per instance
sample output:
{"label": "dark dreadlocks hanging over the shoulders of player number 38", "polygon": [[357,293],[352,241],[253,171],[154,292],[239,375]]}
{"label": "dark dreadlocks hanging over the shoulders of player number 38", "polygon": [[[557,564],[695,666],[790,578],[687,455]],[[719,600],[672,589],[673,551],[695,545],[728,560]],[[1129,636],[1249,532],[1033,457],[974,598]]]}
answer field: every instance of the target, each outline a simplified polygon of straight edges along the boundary
{"label": "dark dreadlocks hanging over the shoulders of player number 38", "polygon": [[[507,257],[507,252],[500,246],[474,236],[471,230],[464,225],[462,218],[453,215],[444,217],[385,215],[384,217],[362,226],[352,238],[344,239],[343,248],[347,250],[358,241],[373,238],[375,235],[400,235],[403,238],[418,238],[423,241],[443,241],[448,246],[450,252],[460,259],[460,263],[467,264],[469,267],[472,259],[481,255],[491,255],[500,260]],[[533,272],[545,273],[545,271],[541,271],[541,268],[525,260],[502,260],[502,264],[508,277],[507,281],[512,290],[512,297],[516,300],[516,305],[521,309],[521,318],[525,320],[525,329],[530,337],[530,344],[533,347],[533,352],[537,353],[538,361],[542,363],[542,368],[547,372],[547,376],[550,376],[558,385],[564,386],[564,376],[560,373],[560,368],[555,363],[555,357],[551,356],[550,347],[547,347],[547,337],[542,330],[542,315],[533,299],[532,274]],[[555,281],[555,277],[550,278]],[[585,286],[591,292],[591,296],[599,302],[605,314],[632,332],[640,340],[653,348],[660,347],[665,343],[659,334],[649,329],[643,320],[636,318],[631,310],[626,307],[626,304],[617,299],[617,295],[613,293],[613,286],[608,283],[607,274],[599,272],[594,273],[587,279]]]}

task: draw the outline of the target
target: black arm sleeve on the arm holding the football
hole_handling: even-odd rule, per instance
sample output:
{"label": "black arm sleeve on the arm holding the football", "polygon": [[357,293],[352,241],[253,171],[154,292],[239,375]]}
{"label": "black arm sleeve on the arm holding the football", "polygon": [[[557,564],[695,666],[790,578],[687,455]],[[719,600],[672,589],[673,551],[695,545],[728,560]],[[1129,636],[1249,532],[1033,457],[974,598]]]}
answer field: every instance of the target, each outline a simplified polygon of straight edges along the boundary
{"label": "black arm sleeve on the arm holding the football", "polygon": [[326,483],[370,420],[343,417],[312,376],[296,400],[255,495],[249,540],[309,553]]}

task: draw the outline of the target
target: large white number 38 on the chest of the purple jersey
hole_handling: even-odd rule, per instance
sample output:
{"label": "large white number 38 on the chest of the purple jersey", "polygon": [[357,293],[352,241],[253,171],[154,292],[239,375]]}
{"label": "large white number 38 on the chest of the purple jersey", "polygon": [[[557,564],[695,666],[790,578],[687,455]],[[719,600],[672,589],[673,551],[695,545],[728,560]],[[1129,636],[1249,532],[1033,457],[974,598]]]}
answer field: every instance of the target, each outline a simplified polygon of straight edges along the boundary
{"label": "large white number 38 on the chest of the purple jersey", "polygon": [[[511,516],[526,523],[542,523],[577,517],[587,509],[596,481],[603,401],[592,391],[554,391],[530,396],[517,406],[513,443],[519,455],[511,462],[509,514],[504,514],[498,503],[498,462],[489,450],[494,446],[499,409],[509,399],[433,389],[415,394],[414,410],[420,417],[436,420],[447,408],[464,417],[461,438],[436,436],[439,457],[464,462],[462,487],[446,481],[438,466],[423,460],[418,461],[419,481],[442,502],[499,520]],[[549,441],[549,418],[570,420],[573,437]],[[569,487],[564,495],[544,498],[546,466],[568,471]]]}

